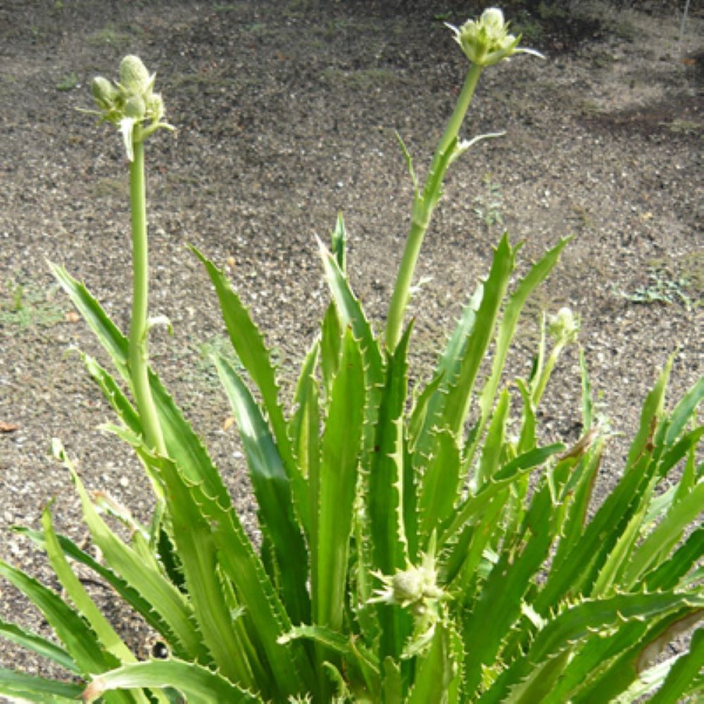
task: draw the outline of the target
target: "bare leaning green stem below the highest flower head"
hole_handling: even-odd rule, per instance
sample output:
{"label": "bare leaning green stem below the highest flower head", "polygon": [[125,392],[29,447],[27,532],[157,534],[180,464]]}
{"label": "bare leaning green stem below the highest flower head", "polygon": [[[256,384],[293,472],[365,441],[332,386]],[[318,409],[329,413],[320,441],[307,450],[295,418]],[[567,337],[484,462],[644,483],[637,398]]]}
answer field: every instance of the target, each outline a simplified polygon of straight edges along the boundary
{"label": "bare leaning green stem below the highest flower head", "polygon": [[427,232],[433,210],[440,198],[442,182],[448,168],[451,150],[454,149],[455,140],[462,126],[462,122],[470,106],[474,89],[477,87],[482,66],[472,64],[467,72],[465,84],[455,105],[445,132],[440,139],[430,166],[422,196],[418,192],[413,201],[413,216],[410,230],[406,238],[406,249],[403,251],[401,265],[398,267],[394,294],[391,296],[389,315],[386,318],[386,346],[393,351],[401,339],[403,317],[410,299],[410,284],[413,281],[415,266],[420,254],[420,246]]}

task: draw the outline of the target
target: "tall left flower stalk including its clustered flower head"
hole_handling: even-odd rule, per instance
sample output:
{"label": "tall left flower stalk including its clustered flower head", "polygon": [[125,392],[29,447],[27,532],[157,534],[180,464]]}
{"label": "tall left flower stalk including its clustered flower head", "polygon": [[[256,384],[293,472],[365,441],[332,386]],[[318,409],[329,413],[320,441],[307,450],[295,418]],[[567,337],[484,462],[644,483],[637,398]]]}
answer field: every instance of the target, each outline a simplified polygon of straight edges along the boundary
{"label": "tall left flower stalk including its clustered flower head", "polygon": [[149,239],[146,228],[146,180],[144,178],[144,139],[162,122],[163,102],[153,92],[154,76],[149,75],[137,56],[125,56],[120,63],[120,82],[97,77],[92,92],[103,120],[112,122],[122,133],[130,161],[130,206],[132,209],[132,320],[130,321],[129,369],[146,444],[166,455],[163,432],[149,386]]}

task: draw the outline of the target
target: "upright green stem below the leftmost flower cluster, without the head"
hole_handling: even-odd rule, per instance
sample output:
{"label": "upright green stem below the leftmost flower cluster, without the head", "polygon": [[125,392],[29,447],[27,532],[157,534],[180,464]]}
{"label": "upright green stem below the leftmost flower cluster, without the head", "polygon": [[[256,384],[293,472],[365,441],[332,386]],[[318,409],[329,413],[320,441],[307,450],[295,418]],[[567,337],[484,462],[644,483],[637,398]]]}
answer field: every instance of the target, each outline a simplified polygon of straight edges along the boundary
{"label": "upright green stem below the leftmost flower cluster, without the head", "polygon": [[146,444],[166,455],[161,425],[149,386],[149,246],[146,236],[146,185],[141,127],[134,127],[134,159],[130,163],[132,206],[132,321],[130,322],[130,376]]}

